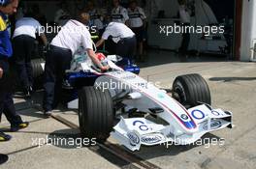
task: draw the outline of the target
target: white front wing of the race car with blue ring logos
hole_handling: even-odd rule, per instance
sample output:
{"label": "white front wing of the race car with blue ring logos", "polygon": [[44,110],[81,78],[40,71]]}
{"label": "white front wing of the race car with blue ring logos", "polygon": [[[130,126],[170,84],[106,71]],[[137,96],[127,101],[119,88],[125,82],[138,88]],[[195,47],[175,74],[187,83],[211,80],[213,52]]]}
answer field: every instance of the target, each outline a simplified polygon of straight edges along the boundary
{"label": "white front wing of the race car with blue ring logos", "polygon": [[176,145],[192,144],[210,131],[232,127],[231,112],[210,109],[204,104],[188,109],[188,112],[198,126],[198,130],[192,134],[175,135],[173,131],[176,128],[172,124],[156,124],[147,118],[121,118],[113,127],[111,135],[127,149],[139,151],[142,145],[154,146],[167,142],[175,142]]}

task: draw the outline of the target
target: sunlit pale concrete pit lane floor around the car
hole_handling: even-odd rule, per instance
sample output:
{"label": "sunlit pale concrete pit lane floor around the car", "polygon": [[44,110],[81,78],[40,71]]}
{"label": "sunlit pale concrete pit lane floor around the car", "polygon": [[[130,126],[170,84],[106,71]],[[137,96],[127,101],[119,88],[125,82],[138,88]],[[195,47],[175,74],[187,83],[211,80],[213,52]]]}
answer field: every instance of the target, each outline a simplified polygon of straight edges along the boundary
{"label": "sunlit pale concrete pit lane floor around the car", "polygon": [[[185,60],[184,60],[185,59]],[[178,58],[170,52],[151,52],[148,62],[141,64],[141,76],[169,88],[177,75],[200,73],[208,81],[213,107],[231,110],[234,113],[233,129],[225,128],[211,132],[198,146],[154,146],[143,147],[135,153],[162,168],[189,169],[240,169],[255,168],[256,165],[256,63],[228,62],[225,58],[188,57]],[[33,96],[34,104],[41,103],[42,93]],[[24,99],[15,99],[17,111],[23,120],[31,122],[28,128],[13,135],[10,142],[0,143],[0,153],[9,155],[3,169],[36,168],[118,168],[112,156],[96,155],[87,148],[72,145],[43,145],[35,139],[48,135],[76,138],[79,130],[70,129],[53,119],[45,119],[42,112],[30,107]],[[40,105],[39,105],[40,106]],[[59,110],[55,114],[78,124],[76,112]],[[0,127],[8,127],[3,118]],[[50,137],[50,136],[49,136]],[[215,143],[225,139],[224,145]],[[210,141],[208,142],[208,139]],[[110,138],[115,144],[114,140]],[[211,144],[209,144],[211,142]],[[222,142],[223,143],[223,142]],[[199,143],[200,144],[200,143]],[[33,147],[34,146],[34,147]],[[78,146],[78,145],[77,145]]]}

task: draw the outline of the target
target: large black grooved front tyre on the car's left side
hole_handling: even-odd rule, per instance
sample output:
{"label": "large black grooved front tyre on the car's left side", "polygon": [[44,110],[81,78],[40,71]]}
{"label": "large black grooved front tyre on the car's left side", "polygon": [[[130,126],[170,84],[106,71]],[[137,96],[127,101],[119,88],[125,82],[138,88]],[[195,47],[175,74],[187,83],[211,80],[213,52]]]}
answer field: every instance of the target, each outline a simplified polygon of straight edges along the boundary
{"label": "large black grooved front tyre on the car's left side", "polygon": [[80,133],[83,138],[106,141],[113,127],[113,104],[108,90],[83,87],[79,91]]}

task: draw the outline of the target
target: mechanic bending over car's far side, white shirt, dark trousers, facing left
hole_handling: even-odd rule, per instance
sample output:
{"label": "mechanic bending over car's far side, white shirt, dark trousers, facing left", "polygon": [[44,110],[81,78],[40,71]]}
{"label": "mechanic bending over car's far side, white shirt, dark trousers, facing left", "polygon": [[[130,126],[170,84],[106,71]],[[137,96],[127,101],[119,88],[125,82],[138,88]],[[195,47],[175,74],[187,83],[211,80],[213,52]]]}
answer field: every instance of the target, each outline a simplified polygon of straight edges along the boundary
{"label": "mechanic bending over car's far side, white shirt, dark trousers, facing left", "polygon": [[112,41],[116,43],[116,55],[129,58],[130,60],[135,59],[136,37],[128,26],[117,22],[109,23],[101,40],[96,43],[96,46],[102,45],[109,38],[112,38]]}

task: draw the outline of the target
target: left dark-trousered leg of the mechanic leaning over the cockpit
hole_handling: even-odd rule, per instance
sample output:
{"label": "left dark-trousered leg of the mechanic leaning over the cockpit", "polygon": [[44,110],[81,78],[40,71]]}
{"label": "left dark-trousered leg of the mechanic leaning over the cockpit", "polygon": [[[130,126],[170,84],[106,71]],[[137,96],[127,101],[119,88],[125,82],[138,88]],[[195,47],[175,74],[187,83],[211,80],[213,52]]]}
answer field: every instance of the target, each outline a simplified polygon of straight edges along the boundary
{"label": "left dark-trousered leg of the mechanic leaning over the cockpit", "polygon": [[55,87],[55,65],[54,65],[54,51],[50,49],[48,51],[48,55],[46,58],[46,66],[45,66],[45,84],[44,84],[44,100],[43,100],[43,108],[45,113],[50,112],[52,110],[52,104],[54,100],[54,87]]}

